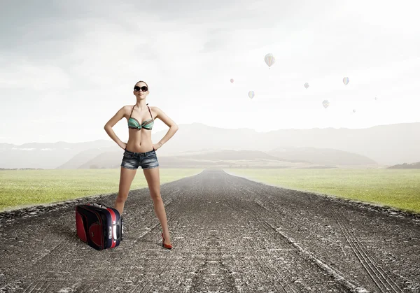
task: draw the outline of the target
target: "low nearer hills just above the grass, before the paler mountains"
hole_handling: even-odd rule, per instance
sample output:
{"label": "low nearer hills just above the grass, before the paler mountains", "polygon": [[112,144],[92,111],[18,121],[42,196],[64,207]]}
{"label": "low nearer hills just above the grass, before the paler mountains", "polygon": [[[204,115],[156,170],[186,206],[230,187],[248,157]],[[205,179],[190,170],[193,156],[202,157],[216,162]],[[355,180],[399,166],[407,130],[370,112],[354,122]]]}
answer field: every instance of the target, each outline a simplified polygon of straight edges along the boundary
{"label": "low nearer hills just above the grass, before the paler mountains", "polygon": [[[265,152],[258,150],[218,150],[218,151],[204,151],[195,152],[190,155],[183,152],[181,155],[160,155],[158,150],[158,160],[160,166],[167,167],[202,167],[207,168],[211,166],[217,167],[236,167],[248,166],[249,168],[263,168],[263,167],[287,167],[287,168],[333,168],[334,166],[325,166],[334,162],[333,165],[367,165],[376,164],[369,158],[360,155],[354,155],[346,152],[337,152],[337,150],[316,150],[311,148],[298,149],[290,152],[282,152],[283,159],[273,155],[268,155]],[[335,154],[339,155],[335,155]],[[322,156],[320,155],[322,154]],[[120,151],[106,151],[98,154],[97,152],[83,152],[71,159],[62,166],[76,166],[76,162],[80,162],[80,158],[86,158],[90,155],[83,164],[77,166],[77,169],[103,169],[103,168],[118,168],[123,159],[123,150]],[[295,158],[293,157],[295,156]],[[316,158],[316,156],[319,156]],[[293,158],[292,158],[293,157]],[[297,159],[298,157],[306,157],[316,162],[309,162]],[[341,160],[341,161],[340,161]],[[323,166],[319,166],[323,164]]]}

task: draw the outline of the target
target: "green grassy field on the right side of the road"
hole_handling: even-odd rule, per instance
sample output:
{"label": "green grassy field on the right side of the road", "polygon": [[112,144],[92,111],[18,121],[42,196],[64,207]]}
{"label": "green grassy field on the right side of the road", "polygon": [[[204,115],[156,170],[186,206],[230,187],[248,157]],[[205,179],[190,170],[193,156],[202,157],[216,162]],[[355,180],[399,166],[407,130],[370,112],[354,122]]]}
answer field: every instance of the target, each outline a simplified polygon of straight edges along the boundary
{"label": "green grassy field on the right side of the road", "polygon": [[269,185],[420,213],[419,169],[225,169]]}

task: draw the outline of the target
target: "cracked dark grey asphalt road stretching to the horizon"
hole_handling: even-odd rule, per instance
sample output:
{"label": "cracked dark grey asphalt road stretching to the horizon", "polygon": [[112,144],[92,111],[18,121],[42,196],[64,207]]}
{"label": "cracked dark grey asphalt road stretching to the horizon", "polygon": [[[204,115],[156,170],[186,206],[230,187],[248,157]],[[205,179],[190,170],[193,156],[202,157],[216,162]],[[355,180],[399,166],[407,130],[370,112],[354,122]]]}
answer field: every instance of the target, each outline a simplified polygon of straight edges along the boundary
{"label": "cracked dark grey asphalt road stretching to the horizon", "polygon": [[214,169],[161,194],[172,250],[147,188],[109,250],[77,238],[74,207],[116,194],[1,213],[0,292],[420,292],[420,216]]}

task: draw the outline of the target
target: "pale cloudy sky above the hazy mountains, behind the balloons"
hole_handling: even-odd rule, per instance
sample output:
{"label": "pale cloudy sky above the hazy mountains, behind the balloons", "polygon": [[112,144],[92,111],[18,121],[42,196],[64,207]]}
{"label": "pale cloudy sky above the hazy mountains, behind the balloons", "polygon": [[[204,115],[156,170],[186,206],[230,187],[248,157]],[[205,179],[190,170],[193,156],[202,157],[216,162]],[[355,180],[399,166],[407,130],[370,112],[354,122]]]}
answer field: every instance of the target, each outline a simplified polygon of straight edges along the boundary
{"label": "pale cloudy sky above the hazy mountains, behind the balloons", "polygon": [[201,2],[0,0],[0,143],[111,139],[138,80],[179,125],[420,122],[418,1]]}

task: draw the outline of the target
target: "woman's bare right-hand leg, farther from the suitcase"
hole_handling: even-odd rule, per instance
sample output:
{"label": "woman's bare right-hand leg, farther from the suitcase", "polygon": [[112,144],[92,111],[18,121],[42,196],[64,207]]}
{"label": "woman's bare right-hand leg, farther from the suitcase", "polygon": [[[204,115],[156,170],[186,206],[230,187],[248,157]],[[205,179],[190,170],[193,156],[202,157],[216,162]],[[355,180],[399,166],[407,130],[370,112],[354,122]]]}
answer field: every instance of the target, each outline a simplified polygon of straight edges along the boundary
{"label": "woman's bare right-hand leg, farther from the suitcase", "polygon": [[160,195],[159,167],[143,169],[143,172],[149,187],[149,191],[151,192],[156,217],[158,217],[160,225],[162,226],[165,243],[171,244],[165,206],[163,206],[162,196]]}

